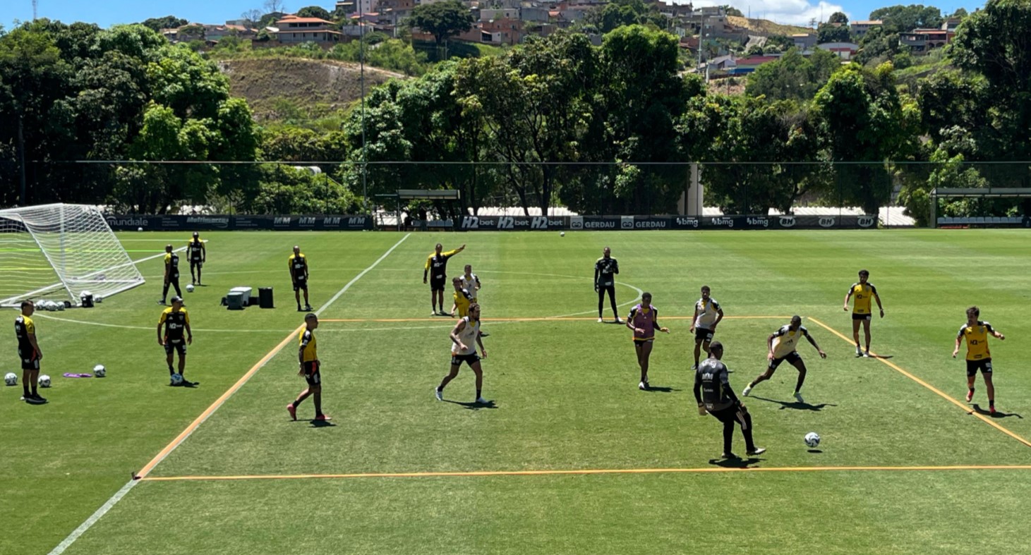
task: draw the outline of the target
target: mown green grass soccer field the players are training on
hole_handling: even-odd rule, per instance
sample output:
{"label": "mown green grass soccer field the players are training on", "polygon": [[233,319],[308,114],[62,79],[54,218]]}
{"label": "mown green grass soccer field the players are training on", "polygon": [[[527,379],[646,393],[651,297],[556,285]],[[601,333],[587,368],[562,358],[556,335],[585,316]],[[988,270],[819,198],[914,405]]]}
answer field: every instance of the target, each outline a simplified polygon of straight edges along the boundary
{"label": "mown green grass soccer field the players are training on", "polygon": [[[119,236],[134,259],[187,240]],[[208,286],[186,294],[196,388],[168,386],[155,339],[160,257],[140,264],[145,285],[97,308],[37,313],[54,387],[44,406],[0,390],[0,553],[1031,553],[1026,231],[202,237]],[[447,402],[433,396],[454,325],[430,316],[422,283],[438,241],[467,244],[450,276],[471,264],[484,283],[487,406],[470,403],[467,367]],[[294,244],[321,310],[331,425],[308,420],[310,400],[296,422],[285,409],[304,386]],[[621,318],[650,291],[671,331],[652,391],[637,388],[630,331],[596,321],[606,245]],[[855,356],[841,310],[862,268],[885,305],[875,358]],[[737,392],[793,314],[828,353],[799,347],[806,403],[789,365],[744,400],[768,451],[740,461],[719,458],[721,426],[692,394],[688,329],[706,284]],[[219,306],[238,285],[274,286],[276,308]],[[970,305],[1007,338],[991,340],[994,417],[980,376],[964,400],[965,347],[951,357]],[[0,371],[21,380],[14,351],[8,328]],[[106,378],[61,377],[95,363]],[[744,454],[739,430],[734,447]]]}

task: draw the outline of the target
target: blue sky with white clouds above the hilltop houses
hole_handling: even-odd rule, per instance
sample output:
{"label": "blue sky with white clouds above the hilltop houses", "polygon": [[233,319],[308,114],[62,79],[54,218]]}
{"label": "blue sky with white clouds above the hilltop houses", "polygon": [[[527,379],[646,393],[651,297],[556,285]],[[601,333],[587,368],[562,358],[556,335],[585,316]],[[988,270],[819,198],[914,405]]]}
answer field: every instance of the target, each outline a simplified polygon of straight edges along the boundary
{"label": "blue sky with white clouds above the hilltop houses", "polygon": [[[130,0],[100,0],[88,2],[84,0],[38,0],[38,14],[71,23],[84,21],[96,23],[101,27],[120,23],[141,22],[147,18],[160,18],[168,14],[198,23],[224,23],[235,20],[245,10],[260,9],[263,0],[175,0],[174,2],[140,2]],[[679,0],[678,0],[679,1]],[[944,0],[925,4],[935,5],[942,13],[949,13],[958,7],[968,11],[984,5],[983,3],[963,2],[962,0]],[[696,0],[695,5],[714,5],[730,3],[740,8],[753,18],[764,18],[777,23],[804,24],[809,19],[827,19],[832,12],[841,10],[852,20],[865,20],[870,11],[886,5],[903,3],[899,0]],[[909,2],[906,2],[909,3]],[[32,19],[32,0],[5,0],[4,8],[0,9],[3,25],[10,28],[14,20]],[[308,2],[286,1],[288,10],[312,5]],[[332,9],[332,2],[315,3],[327,9]]]}

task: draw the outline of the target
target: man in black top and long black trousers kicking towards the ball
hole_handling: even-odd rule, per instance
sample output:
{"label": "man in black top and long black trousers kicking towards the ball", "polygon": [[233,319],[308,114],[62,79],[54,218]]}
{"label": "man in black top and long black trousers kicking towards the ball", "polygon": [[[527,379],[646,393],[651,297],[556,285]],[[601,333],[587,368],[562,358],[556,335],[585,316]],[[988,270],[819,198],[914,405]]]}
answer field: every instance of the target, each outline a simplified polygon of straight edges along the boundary
{"label": "man in black top and long black trousers kicking towards the ball", "polygon": [[708,358],[702,360],[695,371],[695,401],[698,402],[698,414],[705,416],[708,412],[723,422],[723,458],[738,458],[730,448],[734,439],[734,423],[741,426],[749,455],[760,455],[766,449],[756,447],[756,442],[752,439],[752,415],[734,395],[727,366],[720,361],[721,358],[723,358],[723,344],[713,341],[709,345]]}

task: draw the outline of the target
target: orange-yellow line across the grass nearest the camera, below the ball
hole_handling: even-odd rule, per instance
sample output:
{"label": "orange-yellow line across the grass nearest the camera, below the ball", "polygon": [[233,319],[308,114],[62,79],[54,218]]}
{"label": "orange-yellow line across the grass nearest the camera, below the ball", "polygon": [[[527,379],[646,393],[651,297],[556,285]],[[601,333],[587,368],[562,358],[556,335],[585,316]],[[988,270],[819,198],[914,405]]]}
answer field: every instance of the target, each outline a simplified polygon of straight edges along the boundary
{"label": "orange-yellow line across the grass nearest the camera, below the ball", "polygon": [[854,471],[1031,471],[1031,464],[957,464],[949,466],[712,466],[704,469],[584,469],[568,471],[471,471],[439,473],[363,473],[363,474],[280,474],[251,476],[156,476],[145,482],[182,482],[193,480],[303,480],[310,478],[455,478],[490,476],[562,476],[592,474],[704,474],[704,473],[804,473]]}

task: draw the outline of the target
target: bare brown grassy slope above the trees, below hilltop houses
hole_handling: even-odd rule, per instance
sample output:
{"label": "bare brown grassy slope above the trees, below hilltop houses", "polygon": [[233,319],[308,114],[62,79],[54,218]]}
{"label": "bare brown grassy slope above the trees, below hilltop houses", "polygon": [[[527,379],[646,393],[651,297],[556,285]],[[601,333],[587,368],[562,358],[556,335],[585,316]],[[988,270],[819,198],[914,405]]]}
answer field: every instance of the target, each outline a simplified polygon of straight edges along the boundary
{"label": "bare brown grassy slope above the trees, below hilltop houses", "polygon": [[[345,108],[361,98],[358,64],[300,58],[224,60],[218,64],[229,76],[231,94],[245,98],[258,120],[282,118],[278,112],[284,104],[326,112]],[[405,76],[366,66],[366,94],[395,78]]]}

